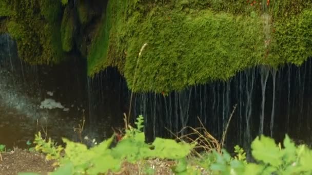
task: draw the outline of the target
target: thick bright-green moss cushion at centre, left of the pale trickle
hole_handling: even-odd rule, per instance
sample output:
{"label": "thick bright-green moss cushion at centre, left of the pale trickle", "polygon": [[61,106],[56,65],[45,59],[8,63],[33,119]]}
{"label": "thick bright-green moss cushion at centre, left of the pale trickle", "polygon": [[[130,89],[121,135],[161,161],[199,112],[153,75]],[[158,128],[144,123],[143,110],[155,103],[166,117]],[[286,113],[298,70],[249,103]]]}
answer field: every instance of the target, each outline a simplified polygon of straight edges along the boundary
{"label": "thick bright-green moss cushion at centre, left of the pale trickle", "polygon": [[[168,92],[226,80],[256,65],[264,54],[260,17],[210,10],[196,14],[159,10],[149,14],[136,30],[125,64],[125,77],[134,91]],[[148,46],[138,58],[145,42]],[[140,62],[133,87],[136,59]]]}

